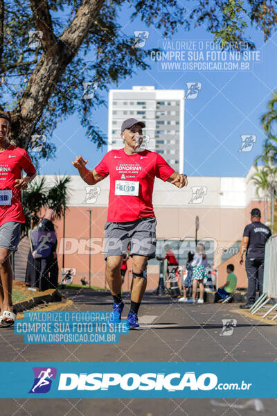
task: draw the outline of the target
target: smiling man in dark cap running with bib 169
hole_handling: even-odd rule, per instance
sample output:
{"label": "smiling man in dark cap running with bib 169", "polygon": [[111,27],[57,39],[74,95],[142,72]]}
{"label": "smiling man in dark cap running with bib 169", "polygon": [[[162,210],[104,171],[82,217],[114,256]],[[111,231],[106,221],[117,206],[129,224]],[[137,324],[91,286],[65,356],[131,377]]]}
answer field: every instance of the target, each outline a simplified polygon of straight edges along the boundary
{"label": "smiling man in dark cap running with bib 169", "polygon": [[110,177],[108,218],[105,225],[106,276],[114,298],[111,322],[118,322],[123,311],[120,266],[123,254],[131,242],[133,279],[131,308],[127,316],[130,329],[139,328],[137,313],[146,288],[146,263],[155,257],[156,218],[152,205],[155,177],[178,188],[188,184],[186,175],[180,175],[156,152],[139,151],[145,123],[127,119],[121,126],[120,137],[125,146],[110,150],[93,169],[85,167],[82,156],[72,162],[80,176],[89,185],[95,185],[107,175]]}

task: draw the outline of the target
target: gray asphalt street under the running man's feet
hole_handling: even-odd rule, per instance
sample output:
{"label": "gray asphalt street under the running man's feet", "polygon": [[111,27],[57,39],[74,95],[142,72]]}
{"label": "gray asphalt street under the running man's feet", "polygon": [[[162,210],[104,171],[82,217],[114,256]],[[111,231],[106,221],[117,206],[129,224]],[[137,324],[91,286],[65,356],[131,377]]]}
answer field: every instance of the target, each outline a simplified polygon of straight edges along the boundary
{"label": "gray asphalt street under the running man's feet", "polygon": [[[129,311],[125,294],[123,318]],[[109,311],[108,293],[69,293],[66,311]],[[169,297],[145,295],[141,331],[120,336],[118,344],[27,345],[12,329],[0,329],[0,361],[276,361],[277,328],[242,314],[238,304],[178,304]],[[222,320],[233,322],[226,334]],[[111,369],[112,370],[112,369]],[[1,374],[1,377],[4,375]],[[16,381],[15,381],[16,383]],[[261,380],[262,383],[262,380]],[[12,386],[11,386],[12,388]],[[1,416],[156,416],[255,415],[264,406],[275,416],[276,399],[0,399]]]}

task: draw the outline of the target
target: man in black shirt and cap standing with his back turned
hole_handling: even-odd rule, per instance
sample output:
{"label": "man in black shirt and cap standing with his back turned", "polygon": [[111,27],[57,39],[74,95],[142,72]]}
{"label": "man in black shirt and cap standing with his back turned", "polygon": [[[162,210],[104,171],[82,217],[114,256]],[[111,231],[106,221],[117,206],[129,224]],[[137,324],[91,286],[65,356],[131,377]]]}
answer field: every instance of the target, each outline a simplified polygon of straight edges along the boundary
{"label": "man in black shirt and cap standing with his back turned", "polygon": [[251,224],[244,228],[240,245],[240,264],[243,264],[243,254],[246,252],[245,270],[248,278],[247,304],[240,305],[242,309],[250,309],[256,299],[256,279],[258,279],[259,295],[262,295],[262,283],[265,261],[265,243],[271,236],[269,227],[260,222],[260,209],[251,211]]}

